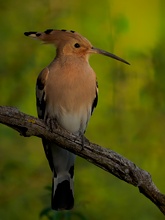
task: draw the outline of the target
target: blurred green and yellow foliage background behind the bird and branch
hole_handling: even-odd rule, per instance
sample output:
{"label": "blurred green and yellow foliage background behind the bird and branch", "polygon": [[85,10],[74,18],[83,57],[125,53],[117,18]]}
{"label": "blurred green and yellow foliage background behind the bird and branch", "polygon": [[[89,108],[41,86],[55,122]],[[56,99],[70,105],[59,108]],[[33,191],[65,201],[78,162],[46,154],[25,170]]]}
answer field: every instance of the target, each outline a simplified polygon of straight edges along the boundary
{"label": "blurred green and yellow foliage background behind the bird and branch", "polygon": [[[165,192],[164,14],[163,0],[0,1],[0,105],[36,115],[35,81],[55,49],[24,37],[23,32],[78,31],[94,46],[131,63],[99,55],[90,58],[100,93],[86,136],[149,171]],[[0,161],[2,220],[33,220],[39,213],[44,220],[164,219],[135,187],[81,158],[76,161],[74,210],[50,212],[45,209],[50,195],[43,188],[51,184],[51,172],[41,141],[20,137],[3,125]]]}

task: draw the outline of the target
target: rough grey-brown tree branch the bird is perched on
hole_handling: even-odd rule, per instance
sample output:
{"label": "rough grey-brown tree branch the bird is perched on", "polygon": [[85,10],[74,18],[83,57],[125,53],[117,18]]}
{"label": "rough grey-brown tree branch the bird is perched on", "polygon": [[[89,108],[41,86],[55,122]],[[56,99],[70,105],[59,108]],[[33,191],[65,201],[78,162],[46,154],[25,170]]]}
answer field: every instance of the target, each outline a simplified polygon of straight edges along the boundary
{"label": "rough grey-brown tree branch the bird is perched on", "polygon": [[82,149],[81,138],[60,127],[54,132],[50,132],[42,120],[26,115],[16,108],[0,106],[0,123],[17,130],[25,137],[37,136],[54,141],[60,147],[85,158],[119,179],[138,187],[139,191],[165,215],[165,195],[160,193],[155,186],[151,175],[116,152],[88,141],[85,142]]}

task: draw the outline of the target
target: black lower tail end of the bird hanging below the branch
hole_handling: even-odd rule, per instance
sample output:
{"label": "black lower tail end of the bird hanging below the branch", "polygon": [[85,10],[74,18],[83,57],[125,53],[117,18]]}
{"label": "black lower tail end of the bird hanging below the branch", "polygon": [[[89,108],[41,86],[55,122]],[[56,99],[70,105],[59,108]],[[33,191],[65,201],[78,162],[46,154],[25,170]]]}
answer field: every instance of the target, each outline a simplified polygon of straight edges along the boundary
{"label": "black lower tail end of the bird hanging below the branch", "polygon": [[70,210],[74,206],[73,178],[66,174],[52,180],[52,209]]}

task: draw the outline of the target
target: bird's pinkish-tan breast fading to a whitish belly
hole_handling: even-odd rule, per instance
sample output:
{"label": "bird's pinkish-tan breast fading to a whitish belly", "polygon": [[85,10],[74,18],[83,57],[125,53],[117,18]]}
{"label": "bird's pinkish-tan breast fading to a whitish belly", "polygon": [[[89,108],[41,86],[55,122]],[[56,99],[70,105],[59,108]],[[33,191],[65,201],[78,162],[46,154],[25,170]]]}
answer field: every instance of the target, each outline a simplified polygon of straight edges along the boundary
{"label": "bird's pinkish-tan breast fading to a whitish belly", "polygon": [[96,76],[88,63],[49,67],[46,112],[72,133],[84,132],[96,93]]}

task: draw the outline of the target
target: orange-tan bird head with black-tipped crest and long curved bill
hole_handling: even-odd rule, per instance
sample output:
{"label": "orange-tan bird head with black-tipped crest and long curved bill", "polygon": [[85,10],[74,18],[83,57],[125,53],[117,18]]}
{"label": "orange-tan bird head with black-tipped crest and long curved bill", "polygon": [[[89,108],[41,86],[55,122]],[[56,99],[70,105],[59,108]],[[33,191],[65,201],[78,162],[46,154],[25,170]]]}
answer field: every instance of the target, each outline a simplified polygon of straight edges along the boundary
{"label": "orange-tan bird head with black-tipped crest and long curved bill", "polygon": [[88,59],[90,54],[102,54],[129,64],[124,59],[112,53],[93,47],[85,37],[75,31],[48,29],[45,32],[30,31],[24,34],[39,39],[44,43],[54,44],[57,48],[57,55],[79,56]]}

